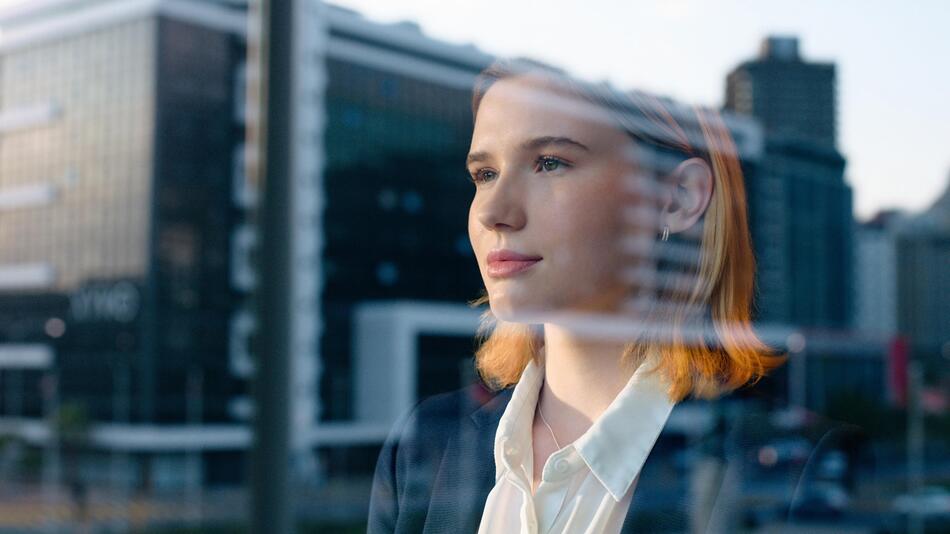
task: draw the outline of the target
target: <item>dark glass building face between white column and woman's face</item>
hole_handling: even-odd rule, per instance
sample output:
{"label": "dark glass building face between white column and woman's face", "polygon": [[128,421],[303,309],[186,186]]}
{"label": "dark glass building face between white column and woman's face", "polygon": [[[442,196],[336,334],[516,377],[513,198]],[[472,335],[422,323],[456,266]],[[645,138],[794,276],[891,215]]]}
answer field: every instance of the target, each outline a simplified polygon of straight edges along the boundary
{"label": "dark glass building face between white column and woman's face", "polygon": [[[322,418],[346,420],[353,417],[357,304],[412,299],[464,307],[479,296],[467,231],[474,188],[464,162],[472,82],[491,58],[416,28],[380,27],[338,9],[330,17],[319,390]],[[471,358],[471,336],[458,343]],[[457,375],[441,382],[444,390],[462,385]]]}

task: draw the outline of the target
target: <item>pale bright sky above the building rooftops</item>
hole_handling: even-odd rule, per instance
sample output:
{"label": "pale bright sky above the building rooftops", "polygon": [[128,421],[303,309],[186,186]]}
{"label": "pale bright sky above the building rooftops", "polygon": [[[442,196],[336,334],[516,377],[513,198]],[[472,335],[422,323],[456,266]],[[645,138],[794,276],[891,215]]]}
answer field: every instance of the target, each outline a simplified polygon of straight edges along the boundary
{"label": "pale bright sky above the building rooftops", "polygon": [[[0,7],[24,0],[0,0]],[[29,1],[29,0],[28,0]],[[36,0],[32,0],[36,1]],[[527,56],[590,80],[720,106],[766,35],[834,62],[855,214],[917,211],[950,181],[950,2],[915,0],[335,0],[431,37]]]}

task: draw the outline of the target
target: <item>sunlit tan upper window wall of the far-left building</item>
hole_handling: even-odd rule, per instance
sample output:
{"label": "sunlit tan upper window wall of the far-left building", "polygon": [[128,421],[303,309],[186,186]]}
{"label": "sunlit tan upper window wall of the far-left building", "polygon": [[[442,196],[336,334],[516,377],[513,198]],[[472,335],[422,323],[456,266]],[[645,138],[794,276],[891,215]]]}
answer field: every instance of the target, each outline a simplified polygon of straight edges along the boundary
{"label": "sunlit tan upper window wall of the far-left building", "polygon": [[50,184],[45,206],[0,211],[0,263],[47,262],[56,289],[145,270],[152,173],[153,23],[0,56],[0,109],[54,102],[53,122],[5,135],[0,189]]}

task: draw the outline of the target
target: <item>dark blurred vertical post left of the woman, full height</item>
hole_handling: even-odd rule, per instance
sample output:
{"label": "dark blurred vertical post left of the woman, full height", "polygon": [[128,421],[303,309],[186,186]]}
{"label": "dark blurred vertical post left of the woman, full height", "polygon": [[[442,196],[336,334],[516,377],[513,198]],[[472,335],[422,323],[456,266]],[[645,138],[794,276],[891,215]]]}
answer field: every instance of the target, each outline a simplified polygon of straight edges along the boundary
{"label": "dark blurred vertical post left of the woman, full height", "polygon": [[261,0],[261,197],[251,532],[293,532],[290,491],[291,47],[294,0]]}

